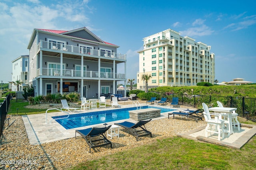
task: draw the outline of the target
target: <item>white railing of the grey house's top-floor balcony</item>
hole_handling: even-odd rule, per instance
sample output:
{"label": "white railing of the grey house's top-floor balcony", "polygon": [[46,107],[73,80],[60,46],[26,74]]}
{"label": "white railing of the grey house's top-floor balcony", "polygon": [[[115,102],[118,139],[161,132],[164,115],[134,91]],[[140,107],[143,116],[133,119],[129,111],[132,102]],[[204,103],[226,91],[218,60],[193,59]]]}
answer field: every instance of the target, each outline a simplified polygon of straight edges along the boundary
{"label": "white railing of the grey house's top-floor balcony", "polygon": [[63,53],[72,52],[76,54],[86,54],[86,55],[92,55],[92,56],[101,56],[101,57],[109,57],[112,59],[126,60],[125,54],[112,53],[110,52],[110,50],[109,51],[95,50],[92,48],[77,47],[74,45],[65,45],[63,43],[48,42],[48,41],[42,41],[42,40],[40,40],[40,43],[38,43],[37,50],[40,50],[41,48],[58,50],[58,51],[62,51]]}

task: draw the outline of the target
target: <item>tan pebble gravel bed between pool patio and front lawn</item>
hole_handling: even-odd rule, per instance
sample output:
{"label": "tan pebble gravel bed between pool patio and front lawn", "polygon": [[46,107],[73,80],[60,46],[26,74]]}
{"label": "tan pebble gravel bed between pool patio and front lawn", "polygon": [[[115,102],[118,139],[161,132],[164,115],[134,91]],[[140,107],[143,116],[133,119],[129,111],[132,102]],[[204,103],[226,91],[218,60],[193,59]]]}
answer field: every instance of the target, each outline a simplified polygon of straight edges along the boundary
{"label": "tan pebble gravel bed between pool patio and front lawn", "polygon": [[5,122],[0,138],[0,169],[67,169],[87,160],[147,145],[157,139],[173,137],[178,133],[185,133],[206,125],[205,121],[195,122],[185,118],[150,121],[146,124],[146,128],[152,132],[152,138],[142,137],[138,142],[134,136],[120,128],[120,137],[113,137],[111,140],[112,149],[110,146],[99,147],[92,149],[92,153],[89,153],[86,141],[80,136],[76,139],[30,145],[22,117],[12,115],[9,123],[10,127],[8,127],[8,121]]}

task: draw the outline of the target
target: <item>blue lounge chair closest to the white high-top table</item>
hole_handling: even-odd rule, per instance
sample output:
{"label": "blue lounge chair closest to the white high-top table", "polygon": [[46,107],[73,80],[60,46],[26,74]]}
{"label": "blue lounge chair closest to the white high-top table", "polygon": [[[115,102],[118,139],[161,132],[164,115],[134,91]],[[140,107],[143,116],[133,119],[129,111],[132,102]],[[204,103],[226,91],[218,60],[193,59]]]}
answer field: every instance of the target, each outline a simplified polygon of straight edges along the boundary
{"label": "blue lounge chair closest to the white high-top table", "polygon": [[180,112],[173,112],[173,113],[168,113],[168,119],[170,115],[180,115],[180,116],[185,116],[190,119],[194,119],[196,122],[198,120],[202,120],[202,116],[200,116],[198,113],[202,113],[204,110],[203,109],[197,109],[195,111],[192,110],[182,110]]}

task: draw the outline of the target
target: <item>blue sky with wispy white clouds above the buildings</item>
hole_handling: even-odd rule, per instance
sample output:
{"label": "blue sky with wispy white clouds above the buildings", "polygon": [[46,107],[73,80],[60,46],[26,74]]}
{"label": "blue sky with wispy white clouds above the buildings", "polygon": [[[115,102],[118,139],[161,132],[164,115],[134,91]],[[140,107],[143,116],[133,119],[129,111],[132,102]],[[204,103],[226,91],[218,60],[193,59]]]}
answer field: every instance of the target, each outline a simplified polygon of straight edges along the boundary
{"label": "blue sky with wispy white clouds above the buildings", "polygon": [[144,37],[173,29],[211,45],[219,82],[256,82],[256,2],[252,0],[0,0],[0,81],[11,81],[11,61],[28,55],[34,28],[87,27],[127,55],[127,78],[138,72]]}

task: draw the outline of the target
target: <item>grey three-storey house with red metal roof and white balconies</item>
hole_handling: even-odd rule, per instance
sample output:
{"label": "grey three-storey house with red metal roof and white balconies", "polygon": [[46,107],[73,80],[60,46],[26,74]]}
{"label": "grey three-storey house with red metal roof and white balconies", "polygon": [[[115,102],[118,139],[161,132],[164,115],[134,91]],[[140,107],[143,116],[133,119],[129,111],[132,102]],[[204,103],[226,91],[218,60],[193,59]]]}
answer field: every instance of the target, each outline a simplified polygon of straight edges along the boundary
{"label": "grey three-storey house with red metal roof and white balconies", "polygon": [[78,92],[81,97],[99,98],[99,94],[115,94],[118,81],[126,84],[126,55],[117,53],[118,47],[86,27],[34,29],[28,44],[29,83],[35,95]]}

